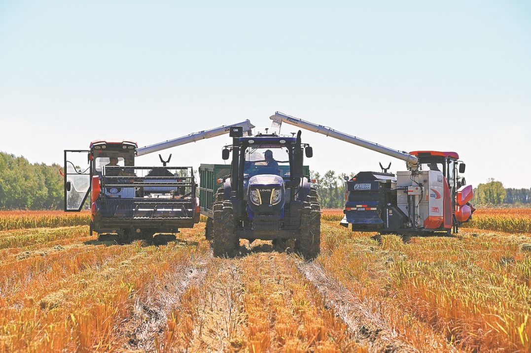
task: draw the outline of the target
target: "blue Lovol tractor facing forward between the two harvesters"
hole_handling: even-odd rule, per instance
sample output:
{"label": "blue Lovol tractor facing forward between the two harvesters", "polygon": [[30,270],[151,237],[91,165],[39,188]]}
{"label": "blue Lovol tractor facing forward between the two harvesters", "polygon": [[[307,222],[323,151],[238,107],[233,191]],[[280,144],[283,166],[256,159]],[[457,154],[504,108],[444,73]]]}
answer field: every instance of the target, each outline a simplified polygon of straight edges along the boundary
{"label": "blue Lovol tractor facing forward between the two harvesters", "polygon": [[[216,190],[209,189],[219,166],[202,164],[201,189],[212,192],[213,204],[201,199],[202,211],[208,217],[207,239],[214,254],[232,254],[239,239],[272,240],[274,243],[293,239],[294,250],[307,258],[315,257],[320,247],[320,206],[309,168],[303,164],[303,153],[311,157],[309,145],[297,136],[261,133],[243,136],[239,127],[231,128],[232,145],[225,146],[222,157],[230,170],[216,180]],[[210,175],[210,178],[203,175]]]}

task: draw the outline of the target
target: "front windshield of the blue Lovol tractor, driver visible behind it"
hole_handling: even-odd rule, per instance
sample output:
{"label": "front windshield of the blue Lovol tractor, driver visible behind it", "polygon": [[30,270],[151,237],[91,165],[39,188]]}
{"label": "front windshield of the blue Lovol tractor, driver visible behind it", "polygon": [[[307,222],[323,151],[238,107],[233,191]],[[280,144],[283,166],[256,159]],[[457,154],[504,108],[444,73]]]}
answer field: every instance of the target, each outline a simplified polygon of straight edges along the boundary
{"label": "front windshield of the blue Lovol tractor, driver visible behind it", "polygon": [[245,150],[244,174],[289,177],[289,151],[282,145],[261,144]]}

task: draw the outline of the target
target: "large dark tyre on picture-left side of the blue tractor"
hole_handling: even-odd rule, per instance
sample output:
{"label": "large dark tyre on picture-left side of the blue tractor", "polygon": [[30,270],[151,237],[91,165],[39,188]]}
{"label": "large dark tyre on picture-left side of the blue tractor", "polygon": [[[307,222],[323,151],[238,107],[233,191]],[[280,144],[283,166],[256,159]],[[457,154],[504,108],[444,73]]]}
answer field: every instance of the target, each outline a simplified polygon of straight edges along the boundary
{"label": "large dark tyre on picture-left side of the blue tractor", "polygon": [[211,244],[214,256],[232,256],[239,246],[232,203],[218,201],[213,205],[213,210]]}

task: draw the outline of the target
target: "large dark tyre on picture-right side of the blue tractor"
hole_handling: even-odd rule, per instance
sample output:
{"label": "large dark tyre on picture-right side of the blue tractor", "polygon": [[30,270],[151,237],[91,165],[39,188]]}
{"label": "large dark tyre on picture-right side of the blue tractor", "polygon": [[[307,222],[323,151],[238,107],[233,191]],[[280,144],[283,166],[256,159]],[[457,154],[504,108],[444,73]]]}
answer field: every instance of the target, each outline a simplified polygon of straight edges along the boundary
{"label": "large dark tyre on picture-right side of the blue tractor", "polygon": [[319,194],[311,188],[301,210],[301,234],[295,241],[295,251],[306,259],[314,259],[321,248],[321,206]]}

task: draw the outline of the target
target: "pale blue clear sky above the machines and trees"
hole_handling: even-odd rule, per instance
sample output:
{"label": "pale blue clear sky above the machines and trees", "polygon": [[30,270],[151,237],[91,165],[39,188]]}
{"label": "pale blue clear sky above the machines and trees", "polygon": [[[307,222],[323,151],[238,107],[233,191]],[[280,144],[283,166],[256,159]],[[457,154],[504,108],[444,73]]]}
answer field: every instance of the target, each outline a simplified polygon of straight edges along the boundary
{"label": "pale blue clear sky above the machines and trees", "polygon": [[[278,110],[400,150],[455,151],[474,185],[529,188],[530,63],[524,1],[0,0],[0,151],[61,162],[97,138],[144,146],[243,119],[268,126]],[[303,139],[313,170],[404,170]],[[165,154],[223,163],[228,142]]]}

